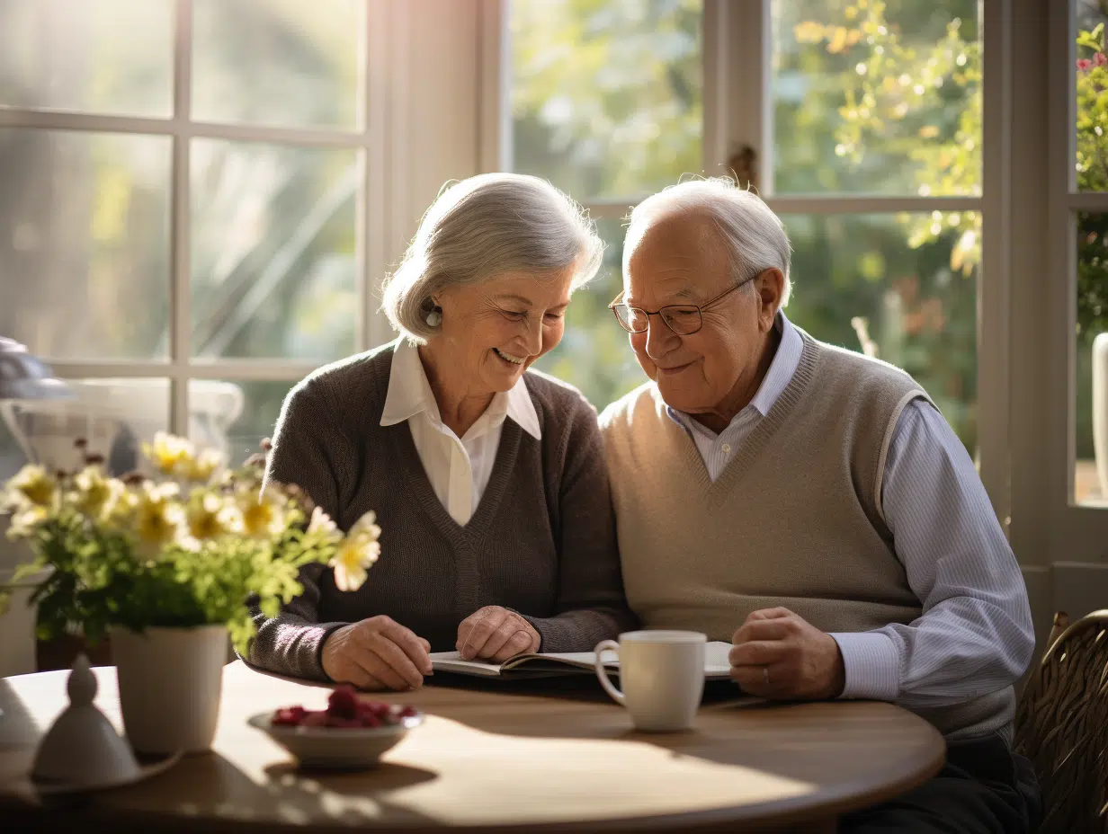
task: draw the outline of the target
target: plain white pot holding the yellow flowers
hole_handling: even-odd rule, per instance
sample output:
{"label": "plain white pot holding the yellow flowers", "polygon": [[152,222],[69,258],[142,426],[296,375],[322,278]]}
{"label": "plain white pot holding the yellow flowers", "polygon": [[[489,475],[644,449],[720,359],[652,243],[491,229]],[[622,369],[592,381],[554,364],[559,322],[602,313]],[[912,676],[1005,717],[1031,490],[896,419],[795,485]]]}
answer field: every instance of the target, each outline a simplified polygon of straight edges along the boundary
{"label": "plain white pot holding the yellow flowers", "polygon": [[140,753],[209,750],[219,719],[227,629],[111,631],[127,741]]}

